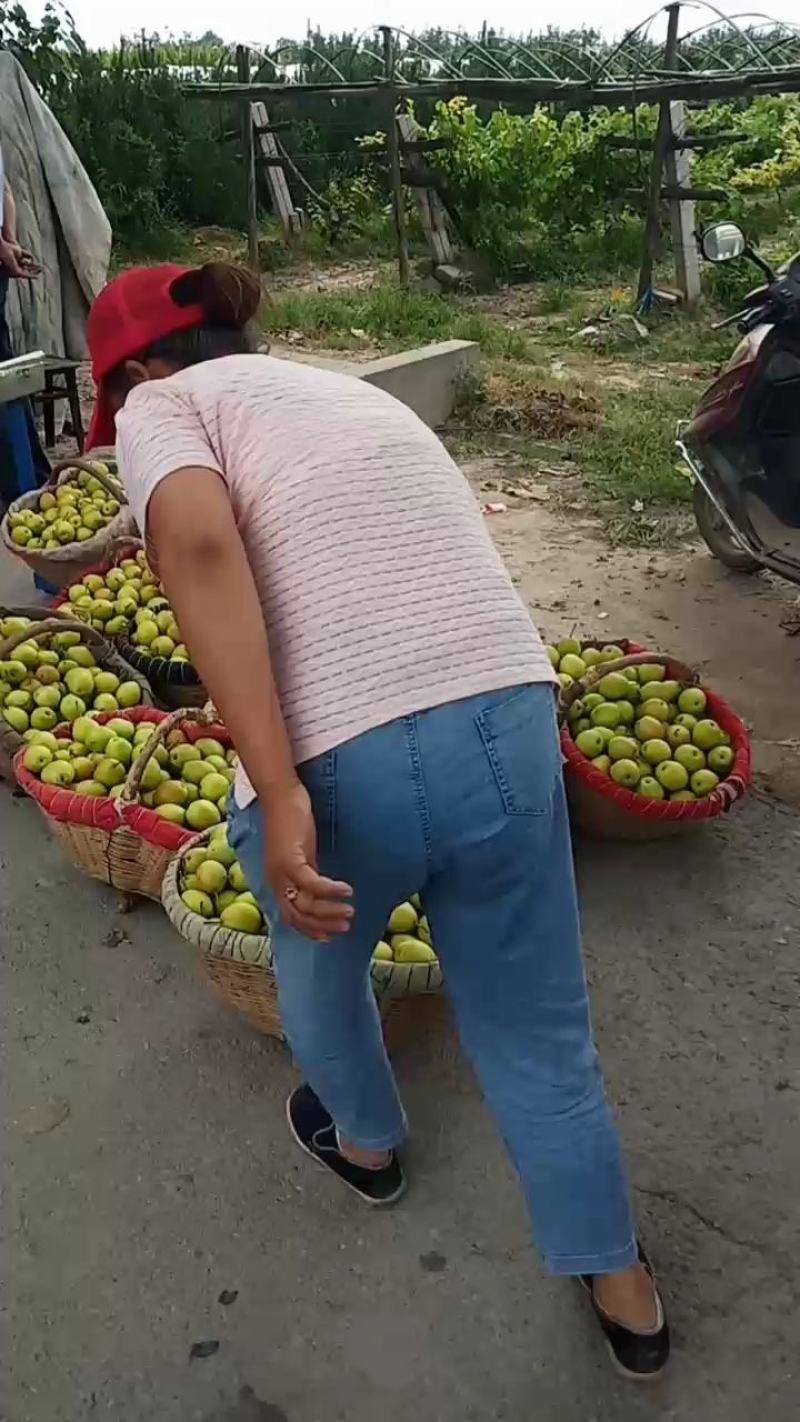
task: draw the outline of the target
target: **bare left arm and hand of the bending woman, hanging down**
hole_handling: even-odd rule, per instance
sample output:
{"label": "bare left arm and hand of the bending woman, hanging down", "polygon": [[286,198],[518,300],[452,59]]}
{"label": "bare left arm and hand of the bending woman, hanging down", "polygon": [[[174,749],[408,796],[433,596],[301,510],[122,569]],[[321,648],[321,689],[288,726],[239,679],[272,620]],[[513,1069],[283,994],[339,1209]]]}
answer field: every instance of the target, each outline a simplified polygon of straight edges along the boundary
{"label": "bare left arm and hand of the bending woman, hanging down", "polygon": [[[261,802],[267,875],[287,921],[313,939],[350,927],[348,884],[317,873],[317,836],[273,678],[253,573],[227,496],[212,469],[162,479],[148,505],[148,540],[192,661]],[[297,889],[294,900],[287,889]]]}

